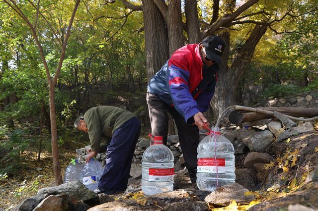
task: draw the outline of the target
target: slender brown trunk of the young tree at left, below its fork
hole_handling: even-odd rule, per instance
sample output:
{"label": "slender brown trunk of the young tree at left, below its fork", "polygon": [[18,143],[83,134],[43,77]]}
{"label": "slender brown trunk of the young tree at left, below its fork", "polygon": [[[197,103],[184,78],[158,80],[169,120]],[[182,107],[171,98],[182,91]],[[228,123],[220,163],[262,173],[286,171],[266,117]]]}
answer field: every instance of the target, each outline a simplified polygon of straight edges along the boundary
{"label": "slender brown trunk of the young tree at left, below its fork", "polygon": [[49,99],[50,99],[50,119],[51,119],[51,145],[52,145],[52,158],[53,158],[53,169],[55,174],[56,185],[63,184],[61,166],[59,161],[59,150],[58,150],[58,133],[56,126],[56,110],[54,101],[54,86],[50,86]]}

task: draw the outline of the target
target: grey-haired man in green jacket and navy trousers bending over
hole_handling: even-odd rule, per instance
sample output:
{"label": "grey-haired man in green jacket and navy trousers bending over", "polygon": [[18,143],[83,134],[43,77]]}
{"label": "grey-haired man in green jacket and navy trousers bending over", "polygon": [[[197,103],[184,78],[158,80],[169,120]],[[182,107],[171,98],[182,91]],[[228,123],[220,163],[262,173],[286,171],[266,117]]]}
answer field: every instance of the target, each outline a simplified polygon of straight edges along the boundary
{"label": "grey-haired man in green jacket and navy trousers bending over", "polygon": [[98,153],[101,136],[111,141],[106,151],[106,164],[95,193],[116,194],[126,190],[131,162],[140,135],[139,119],[130,111],[114,106],[88,109],[74,126],[88,133],[90,148],[86,162]]}

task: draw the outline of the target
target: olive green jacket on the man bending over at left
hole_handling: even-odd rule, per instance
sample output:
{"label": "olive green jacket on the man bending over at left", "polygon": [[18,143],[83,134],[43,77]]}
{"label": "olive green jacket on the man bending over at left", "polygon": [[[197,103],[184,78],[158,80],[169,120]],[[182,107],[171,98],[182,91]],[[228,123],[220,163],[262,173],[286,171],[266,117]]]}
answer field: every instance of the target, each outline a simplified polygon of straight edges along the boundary
{"label": "olive green jacket on the man bending over at left", "polygon": [[101,136],[111,138],[113,132],[123,123],[135,117],[132,112],[114,106],[89,108],[84,114],[92,151],[98,151]]}

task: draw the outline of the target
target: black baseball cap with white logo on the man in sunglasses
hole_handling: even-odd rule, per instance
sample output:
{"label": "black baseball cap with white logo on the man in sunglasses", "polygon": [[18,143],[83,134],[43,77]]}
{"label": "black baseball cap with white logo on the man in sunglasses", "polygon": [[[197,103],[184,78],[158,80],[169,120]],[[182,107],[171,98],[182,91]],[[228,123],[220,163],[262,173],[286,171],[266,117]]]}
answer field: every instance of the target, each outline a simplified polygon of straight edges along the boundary
{"label": "black baseball cap with white logo on the man in sunglasses", "polygon": [[210,35],[204,38],[201,44],[205,48],[205,52],[209,59],[216,61],[218,63],[222,63],[221,55],[224,52],[225,43],[221,37],[216,35]]}

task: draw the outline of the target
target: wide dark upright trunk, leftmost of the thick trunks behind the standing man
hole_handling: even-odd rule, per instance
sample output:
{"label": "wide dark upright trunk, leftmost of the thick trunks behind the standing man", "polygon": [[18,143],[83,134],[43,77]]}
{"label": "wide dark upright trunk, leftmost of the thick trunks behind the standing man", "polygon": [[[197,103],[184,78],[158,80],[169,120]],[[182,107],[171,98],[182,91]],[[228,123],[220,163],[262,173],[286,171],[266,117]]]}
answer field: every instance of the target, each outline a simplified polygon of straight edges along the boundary
{"label": "wide dark upright trunk, leftmost of the thick trunks behind the standing man", "polygon": [[143,0],[148,81],[168,59],[167,29],[153,0]]}

